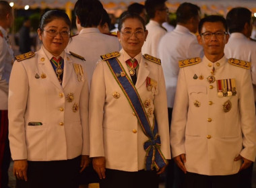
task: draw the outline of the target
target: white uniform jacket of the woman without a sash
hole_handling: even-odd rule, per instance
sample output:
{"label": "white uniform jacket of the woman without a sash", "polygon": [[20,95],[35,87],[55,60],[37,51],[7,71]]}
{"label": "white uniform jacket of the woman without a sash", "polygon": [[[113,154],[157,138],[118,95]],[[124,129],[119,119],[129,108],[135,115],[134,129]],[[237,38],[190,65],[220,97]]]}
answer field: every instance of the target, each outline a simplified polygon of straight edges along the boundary
{"label": "white uniform jacket of the woman without a sash", "polygon": [[[61,86],[46,54],[50,53],[42,47],[33,57],[13,64],[9,86],[13,160],[67,160],[89,155],[89,92],[84,61],[63,52]],[[78,81],[73,64],[84,69],[82,81]],[[73,100],[68,95],[73,95]],[[42,125],[29,126],[30,122]]]}

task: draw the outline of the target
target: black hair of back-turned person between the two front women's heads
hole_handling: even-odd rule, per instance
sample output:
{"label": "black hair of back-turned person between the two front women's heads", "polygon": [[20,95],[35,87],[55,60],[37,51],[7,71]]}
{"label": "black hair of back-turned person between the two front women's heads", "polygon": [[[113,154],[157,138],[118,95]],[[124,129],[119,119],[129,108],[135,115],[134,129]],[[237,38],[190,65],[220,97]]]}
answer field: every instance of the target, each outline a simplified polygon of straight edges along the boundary
{"label": "black hair of back-turned person between the two front women's heads", "polygon": [[102,3],[98,0],[78,0],[74,7],[75,15],[84,28],[98,26],[103,10]]}

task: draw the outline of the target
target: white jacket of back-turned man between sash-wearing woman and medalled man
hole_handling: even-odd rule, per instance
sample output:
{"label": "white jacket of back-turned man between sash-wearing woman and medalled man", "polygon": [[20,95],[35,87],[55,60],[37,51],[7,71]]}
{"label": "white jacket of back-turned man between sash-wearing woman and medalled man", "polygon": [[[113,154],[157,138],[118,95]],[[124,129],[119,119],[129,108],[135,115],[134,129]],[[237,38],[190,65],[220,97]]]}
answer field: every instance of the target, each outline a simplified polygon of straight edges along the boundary
{"label": "white jacket of back-turned man between sash-wearing woman and medalled man", "polygon": [[164,70],[167,105],[172,108],[179,75],[179,60],[203,57],[203,47],[187,28],[177,25],[173,32],[161,38],[158,52]]}

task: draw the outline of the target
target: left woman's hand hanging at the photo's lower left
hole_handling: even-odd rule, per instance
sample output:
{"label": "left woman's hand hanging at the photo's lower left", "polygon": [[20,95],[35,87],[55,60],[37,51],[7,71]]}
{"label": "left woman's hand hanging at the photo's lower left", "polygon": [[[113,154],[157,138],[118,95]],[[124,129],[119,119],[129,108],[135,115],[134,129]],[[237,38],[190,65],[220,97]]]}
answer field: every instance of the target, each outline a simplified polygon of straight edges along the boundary
{"label": "left woman's hand hanging at the photo's lower left", "polygon": [[13,175],[18,179],[28,181],[27,177],[28,162],[27,160],[14,160]]}

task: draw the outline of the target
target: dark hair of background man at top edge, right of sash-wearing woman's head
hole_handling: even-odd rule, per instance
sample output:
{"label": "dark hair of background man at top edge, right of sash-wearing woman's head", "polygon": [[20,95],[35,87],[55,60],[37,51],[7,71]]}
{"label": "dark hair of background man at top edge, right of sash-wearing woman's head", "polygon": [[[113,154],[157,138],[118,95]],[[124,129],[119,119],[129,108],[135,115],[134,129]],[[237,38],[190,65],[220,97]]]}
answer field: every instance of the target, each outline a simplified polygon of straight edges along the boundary
{"label": "dark hair of background man at top edge, right of sash-wearing woman's head", "polygon": [[164,7],[164,3],[167,0],[146,0],[145,8],[148,16],[151,18],[155,17],[156,11]]}

